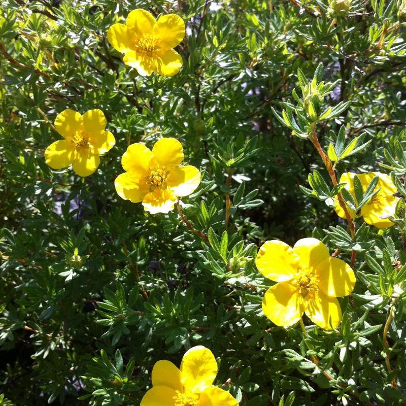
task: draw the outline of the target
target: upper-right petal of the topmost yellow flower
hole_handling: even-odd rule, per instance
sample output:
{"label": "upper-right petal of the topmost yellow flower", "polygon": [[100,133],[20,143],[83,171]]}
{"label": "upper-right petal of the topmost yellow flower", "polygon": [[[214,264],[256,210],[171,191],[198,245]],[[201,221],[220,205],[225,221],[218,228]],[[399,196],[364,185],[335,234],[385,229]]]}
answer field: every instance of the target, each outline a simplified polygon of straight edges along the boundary
{"label": "upper-right petal of the topmost yellow flower", "polygon": [[176,14],[166,14],[158,18],[154,34],[160,40],[162,49],[172,49],[185,37],[185,22]]}

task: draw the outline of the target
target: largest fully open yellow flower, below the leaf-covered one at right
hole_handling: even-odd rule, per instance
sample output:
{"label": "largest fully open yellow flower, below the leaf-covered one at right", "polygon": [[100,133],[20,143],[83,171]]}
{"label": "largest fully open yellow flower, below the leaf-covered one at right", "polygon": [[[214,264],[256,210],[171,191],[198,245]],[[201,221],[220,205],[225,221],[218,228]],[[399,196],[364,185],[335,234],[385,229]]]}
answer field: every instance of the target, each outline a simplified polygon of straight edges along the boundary
{"label": "largest fully open yellow flower, below the leaf-covered one at right", "polygon": [[304,238],[293,248],[282,241],[266,241],[255,263],[265,278],[278,282],[262,300],[262,310],[270,321],[287,327],[306,313],[325,330],[340,324],[337,297],[352,292],[355,275],[347,263],[331,258],[321,241]]}

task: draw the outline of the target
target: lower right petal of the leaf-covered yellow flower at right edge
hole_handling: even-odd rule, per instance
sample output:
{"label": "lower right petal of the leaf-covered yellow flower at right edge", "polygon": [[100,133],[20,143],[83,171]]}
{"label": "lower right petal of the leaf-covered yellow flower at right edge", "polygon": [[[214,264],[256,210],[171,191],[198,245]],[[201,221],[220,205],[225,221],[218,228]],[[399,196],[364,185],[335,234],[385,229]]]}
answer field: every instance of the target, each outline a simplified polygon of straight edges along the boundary
{"label": "lower right petal of the leaf-covered yellow flower at right edge", "polygon": [[390,220],[383,219],[383,216],[394,216],[398,197],[383,195],[381,192],[361,209],[365,223],[375,225],[378,228],[389,228],[394,225]]}

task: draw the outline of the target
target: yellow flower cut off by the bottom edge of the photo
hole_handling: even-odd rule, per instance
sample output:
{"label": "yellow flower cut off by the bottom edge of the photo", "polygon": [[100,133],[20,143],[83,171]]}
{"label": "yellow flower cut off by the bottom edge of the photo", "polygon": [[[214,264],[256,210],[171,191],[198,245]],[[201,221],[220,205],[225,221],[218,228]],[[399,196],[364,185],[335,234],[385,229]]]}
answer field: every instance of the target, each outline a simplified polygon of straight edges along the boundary
{"label": "yellow flower cut off by the bottom edge of the photo", "polygon": [[203,346],[187,351],[180,369],[158,361],[152,369],[153,387],[140,406],[238,406],[228,392],[212,385],[217,371],[216,358]]}

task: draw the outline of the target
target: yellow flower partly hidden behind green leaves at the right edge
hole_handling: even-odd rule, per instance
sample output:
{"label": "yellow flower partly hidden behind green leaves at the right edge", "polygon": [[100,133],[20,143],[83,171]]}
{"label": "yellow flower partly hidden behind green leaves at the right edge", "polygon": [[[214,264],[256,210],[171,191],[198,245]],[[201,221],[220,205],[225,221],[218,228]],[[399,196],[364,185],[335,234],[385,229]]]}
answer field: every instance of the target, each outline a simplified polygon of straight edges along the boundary
{"label": "yellow flower partly hidden behind green leaves at the right edge", "polygon": [[[365,206],[361,208],[360,215],[364,218],[365,223],[375,225],[378,228],[388,228],[393,225],[393,223],[388,219],[383,219],[383,216],[394,216],[398,197],[394,194],[397,192],[396,186],[393,184],[390,177],[386,174],[381,174],[379,172],[368,172],[367,174],[354,174],[352,172],[347,172],[341,175],[340,183],[347,183],[345,188],[355,196],[354,193],[354,175],[358,175],[361,181],[362,189],[365,192],[366,187],[369,182],[379,176],[379,181],[376,189],[381,188],[378,194],[371,199]],[[341,208],[338,200],[334,200],[335,212],[337,215],[346,218],[344,210]],[[352,218],[355,217],[354,210],[348,209]]]}

